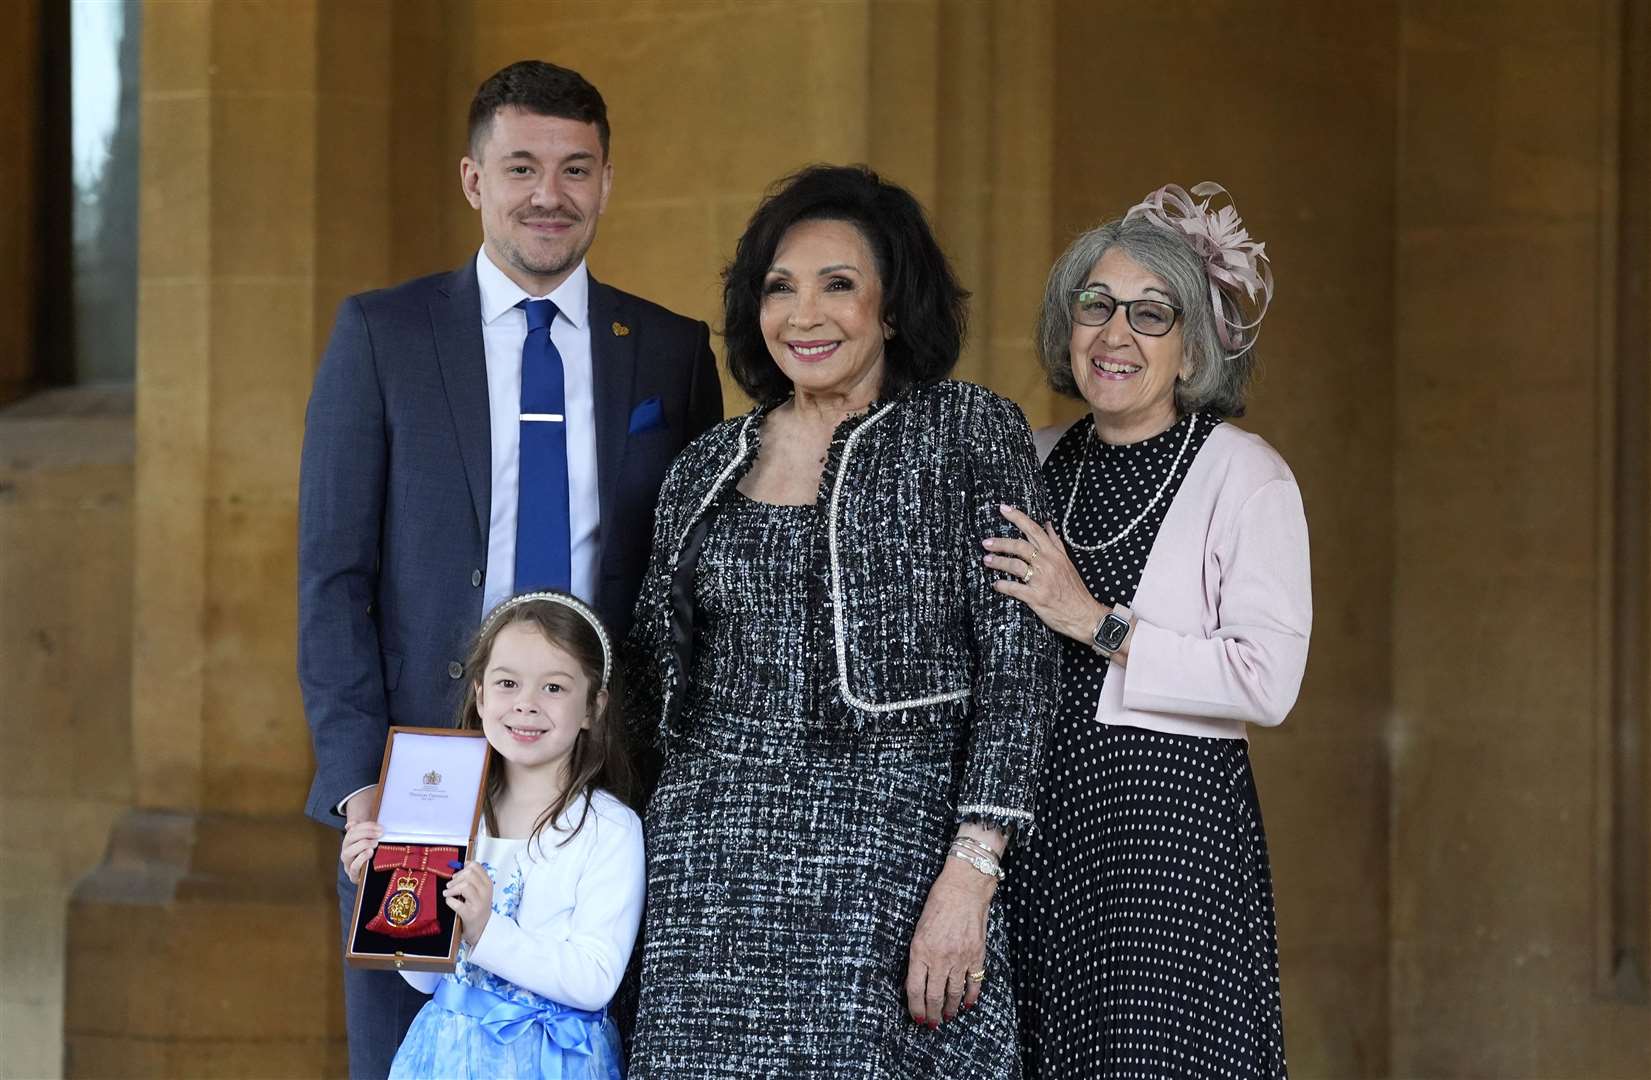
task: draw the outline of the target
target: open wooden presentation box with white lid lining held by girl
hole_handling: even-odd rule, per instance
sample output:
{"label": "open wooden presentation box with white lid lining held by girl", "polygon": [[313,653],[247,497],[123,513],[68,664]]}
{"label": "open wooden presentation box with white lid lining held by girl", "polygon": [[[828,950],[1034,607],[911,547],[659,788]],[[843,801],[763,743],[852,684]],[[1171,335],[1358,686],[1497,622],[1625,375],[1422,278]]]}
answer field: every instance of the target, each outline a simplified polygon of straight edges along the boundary
{"label": "open wooden presentation box with white lid lining held by girl", "polygon": [[[469,862],[487,791],[487,738],[480,732],[390,728],[373,804],[373,819],[385,827],[380,849],[406,846],[409,859],[416,859],[424,849],[456,847],[459,862]],[[408,910],[423,907],[406,897],[386,905],[396,892],[396,880],[408,875],[409,869],[416,869],[416,864],[385,870],[368,864],[367,875],[355,890],[353,931],[345,951],[345,963],[352,968],[452,971],[457,966],[459,917],[441,898],[446,885],[442,877],[431,875],[436,912],[433,933],[403,938],[370,925],[375,917],[383,917],[380,925],[388,926],[385,918],[391,912],[406,918]],[[451,874],[447,867],[442,870]]]}

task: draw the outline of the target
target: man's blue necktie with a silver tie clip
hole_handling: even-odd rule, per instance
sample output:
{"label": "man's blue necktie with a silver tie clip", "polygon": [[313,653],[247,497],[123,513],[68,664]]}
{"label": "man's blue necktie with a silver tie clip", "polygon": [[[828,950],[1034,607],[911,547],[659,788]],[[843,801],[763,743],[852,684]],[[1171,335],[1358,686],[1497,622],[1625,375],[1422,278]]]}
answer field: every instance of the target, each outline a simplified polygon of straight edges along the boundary
{"label": "man's blue necktie with a silver tie clip", "polygon": [[570,590],[566,395],[561,388],[561,353],[550,340],[556,306],[551,301],[522,301],[517,307],[527,312],[527,342],[522,345],[515,591]]}

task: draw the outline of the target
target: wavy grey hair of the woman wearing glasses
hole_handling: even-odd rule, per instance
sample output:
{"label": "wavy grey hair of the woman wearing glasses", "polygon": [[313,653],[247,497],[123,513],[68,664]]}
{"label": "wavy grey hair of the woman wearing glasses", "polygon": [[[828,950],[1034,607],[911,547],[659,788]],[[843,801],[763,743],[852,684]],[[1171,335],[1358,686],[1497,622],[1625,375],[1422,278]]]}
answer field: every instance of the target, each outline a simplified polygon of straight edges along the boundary
{"label": "wavy grey hair of the woman wearing glasses", "polygon": [[[1255,348],[1237,357],[1222,348],[1204,259],[1179,236],[1141,216],[1114,218],[1081,233],[1050,268],[1043,309],[1037,319],[1037,357],[1050,390],[1068,398],[1081,396],[1071,377],[1071,292],[1088,284],[1090,269],[1111,248],[1123,249],[1144,269],[1162,277],[1172,302],[1180,309],[1182,360],[1192,368],[1189,378],[1176,380],[1176,408],[1180,414],[1205,411],[1243,416],[1245,393],[1255,375]],[[1253,340],[1253,332],[1242,340]]]}

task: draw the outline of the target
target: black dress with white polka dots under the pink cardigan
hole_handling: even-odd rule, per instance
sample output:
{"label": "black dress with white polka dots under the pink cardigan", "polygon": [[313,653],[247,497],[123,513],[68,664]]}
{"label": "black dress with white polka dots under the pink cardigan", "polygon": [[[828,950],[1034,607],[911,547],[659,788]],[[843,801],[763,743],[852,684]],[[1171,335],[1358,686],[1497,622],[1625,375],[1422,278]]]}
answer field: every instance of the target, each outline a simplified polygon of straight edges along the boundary
{"label": "black dress with white polka dots under the pink cardigan", "polygon": [[[1043,482],[1096,599],[1134,598],[1217,423],[1194,414],[1108,446],[1085,418],[1055,446]],[[1123,540],[1083,550],[1131,522]],[[1025,1077],[1283,1077],[1273,887],[1247,745],[1096,723],[1106,669],[1063,639],[1038,824],[1010,864]]]}

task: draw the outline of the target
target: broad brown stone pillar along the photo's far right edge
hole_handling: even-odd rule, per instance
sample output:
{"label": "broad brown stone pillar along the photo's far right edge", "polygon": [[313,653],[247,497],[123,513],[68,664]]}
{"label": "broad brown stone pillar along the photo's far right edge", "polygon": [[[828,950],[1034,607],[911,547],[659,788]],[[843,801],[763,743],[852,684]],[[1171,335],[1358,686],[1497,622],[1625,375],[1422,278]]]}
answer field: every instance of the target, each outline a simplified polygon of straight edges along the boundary
{"label": "broad brown stone pillar along the photo's far right edge", "polygon": [[1393,1072],[1644,1077],[1646,5],[1398,8]]}

